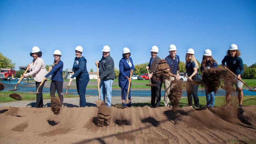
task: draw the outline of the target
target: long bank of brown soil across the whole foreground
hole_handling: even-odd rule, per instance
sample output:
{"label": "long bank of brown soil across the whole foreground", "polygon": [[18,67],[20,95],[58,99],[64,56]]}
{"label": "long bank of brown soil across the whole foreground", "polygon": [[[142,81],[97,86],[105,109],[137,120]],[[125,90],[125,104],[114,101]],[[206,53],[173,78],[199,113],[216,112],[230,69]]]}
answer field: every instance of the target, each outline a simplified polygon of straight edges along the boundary
{"label": "long bank of brown soil across the whole foreground", "polygon": [[[50,108],[0,107],[0,111],[4,109],[8,111],[0,114],[0,143],[256,142],[256,106],[183,107],[176,114],[169,107],[111,107],[108,125],[100,127],[92,122],[98,117],[97,107],[62,108],[59,115]],[[23,117],[7,115],[11,111]],[[130,125],[119,126],[117,120],[127,120]]]}

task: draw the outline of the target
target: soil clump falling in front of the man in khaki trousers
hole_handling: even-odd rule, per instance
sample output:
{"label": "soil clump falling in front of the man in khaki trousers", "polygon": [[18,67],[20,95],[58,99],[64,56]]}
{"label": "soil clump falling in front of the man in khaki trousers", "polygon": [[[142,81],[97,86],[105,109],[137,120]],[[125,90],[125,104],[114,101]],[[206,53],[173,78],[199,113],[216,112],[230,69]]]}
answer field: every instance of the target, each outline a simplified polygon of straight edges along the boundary
{"label": "soil clump falling in front of the man in khaki trousers", "polygon": [[173,111],[176,112],[177,108],[179,108],[179,100],[182,94],[182,81],[172,81],[172,87],[170,89],[170,93],[168,98],[172,103]]}

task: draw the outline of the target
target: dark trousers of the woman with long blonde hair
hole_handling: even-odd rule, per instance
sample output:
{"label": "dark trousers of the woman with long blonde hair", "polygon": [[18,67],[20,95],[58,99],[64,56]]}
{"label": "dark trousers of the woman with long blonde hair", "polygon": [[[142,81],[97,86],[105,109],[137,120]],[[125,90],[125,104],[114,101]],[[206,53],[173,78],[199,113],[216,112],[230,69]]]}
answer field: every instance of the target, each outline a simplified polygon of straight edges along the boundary
{"label": "dark trousers of the woman with long blonde hair", "polygon": [[[198,76],[192,77],[192,80],[199,81],[199,77]],[[186,89],[187,89],[187,95],[188,95],[188,106],[192,106],[192,96],[193,96],[195,106],[196,108],[199,108],[199,99],[197,96],[198,87],[199,85],[194,85],[189,80],[187,81]]]}

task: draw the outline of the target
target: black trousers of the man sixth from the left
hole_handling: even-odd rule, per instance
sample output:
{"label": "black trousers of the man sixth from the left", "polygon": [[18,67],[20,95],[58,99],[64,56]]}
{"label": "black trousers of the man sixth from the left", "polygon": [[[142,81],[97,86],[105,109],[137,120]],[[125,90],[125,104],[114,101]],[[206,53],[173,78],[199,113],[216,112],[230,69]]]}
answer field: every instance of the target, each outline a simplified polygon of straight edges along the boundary
{"label": "black trousers of the man sixth from the left", "polygon": [[156,84],[156,86],[151,86],[151,106],[159,107],[161,100],[161,88],[163,83],[160,81],[152,81],[152,84]]}

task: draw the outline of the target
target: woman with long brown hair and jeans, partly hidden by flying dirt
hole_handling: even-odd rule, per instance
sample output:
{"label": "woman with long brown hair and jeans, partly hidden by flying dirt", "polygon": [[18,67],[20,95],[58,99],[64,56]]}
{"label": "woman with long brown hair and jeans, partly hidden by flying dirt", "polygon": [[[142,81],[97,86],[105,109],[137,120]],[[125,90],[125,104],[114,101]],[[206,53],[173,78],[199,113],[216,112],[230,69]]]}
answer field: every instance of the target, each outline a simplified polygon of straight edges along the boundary
{"label": "woman with long brown hair and jeans, partly hidden by flying dirt", "polygon": [[[212,51],[209,49],[204,50],[200,71],[203,72],[205,69],[217,68],[217,67],[218,67],[217,61],[213,59]],[[205,90],[205,96],[206,96],[206,106],[213,107],[215,92],[208,92],[206,87],[204,88],[204,90]]]}

